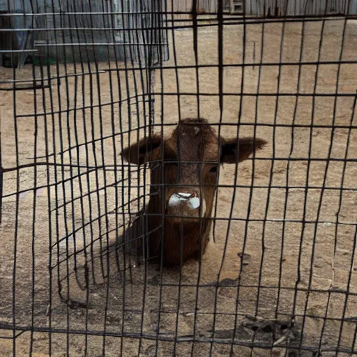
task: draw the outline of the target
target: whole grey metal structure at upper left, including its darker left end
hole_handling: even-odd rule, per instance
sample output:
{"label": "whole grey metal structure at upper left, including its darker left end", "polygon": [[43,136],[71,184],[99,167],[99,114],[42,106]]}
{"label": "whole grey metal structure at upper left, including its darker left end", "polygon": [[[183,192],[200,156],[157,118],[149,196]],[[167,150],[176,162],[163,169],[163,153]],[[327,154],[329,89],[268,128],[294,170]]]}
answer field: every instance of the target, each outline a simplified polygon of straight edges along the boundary
{"label": "whole grey metal structure at upper left, including its darker left end", "polygon": [[29,53],[67,62],[127,59],[154,65],[167,59],[163,18],[155,14],[160,1],[12,0],[9,8],[8,0],[1,0],[0,11],[9,19],[2,27],[19,30],[18,67]]}

